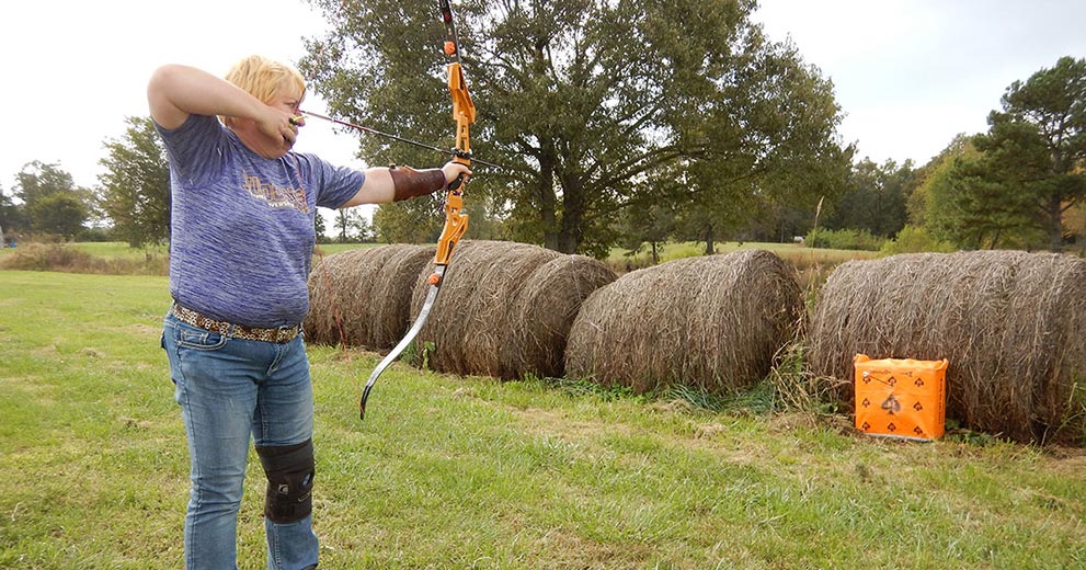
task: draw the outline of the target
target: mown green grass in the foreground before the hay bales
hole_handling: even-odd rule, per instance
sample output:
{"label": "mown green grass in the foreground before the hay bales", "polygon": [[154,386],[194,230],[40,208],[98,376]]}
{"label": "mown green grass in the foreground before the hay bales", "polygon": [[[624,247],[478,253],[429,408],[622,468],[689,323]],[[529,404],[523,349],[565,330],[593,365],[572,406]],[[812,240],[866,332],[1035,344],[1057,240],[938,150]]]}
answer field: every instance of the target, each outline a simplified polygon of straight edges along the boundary
{"label": "mown green grass in the foreground before the hay bales", "polygon": [[[181,565],[164,277],[0,271],[0,568]],[[1086,454],[313,346],[321,568],[1086,568]],[[264,567],[251,456],[243,569]]]}

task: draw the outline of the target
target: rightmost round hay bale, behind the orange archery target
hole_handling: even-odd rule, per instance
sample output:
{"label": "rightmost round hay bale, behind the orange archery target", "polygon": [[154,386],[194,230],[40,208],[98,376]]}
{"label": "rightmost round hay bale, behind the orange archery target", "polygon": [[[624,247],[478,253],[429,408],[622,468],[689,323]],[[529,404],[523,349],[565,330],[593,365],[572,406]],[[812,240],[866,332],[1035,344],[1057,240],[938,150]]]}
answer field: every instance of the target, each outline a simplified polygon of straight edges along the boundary
{"label": "rightmost round hay bale, behind the orange archery target", "polygon": [[1082,442],[1086,261],[1020,251],[918,253],[838,266],[820,295],[810,366],[948,358],[947,415],[1020,442]]}

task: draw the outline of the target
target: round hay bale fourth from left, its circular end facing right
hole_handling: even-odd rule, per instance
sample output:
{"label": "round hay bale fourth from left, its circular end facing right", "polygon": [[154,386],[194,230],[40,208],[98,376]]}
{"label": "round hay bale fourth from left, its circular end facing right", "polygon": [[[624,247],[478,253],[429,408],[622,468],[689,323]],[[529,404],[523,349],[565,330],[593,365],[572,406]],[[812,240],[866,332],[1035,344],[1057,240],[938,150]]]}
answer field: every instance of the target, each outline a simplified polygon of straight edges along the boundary
{"label": "round hay bale fourth from left, its circular end facing right", "polygon": [[803,315],[795,271],[771,252],[671,261],[588,297],[570,330],[567,374],[637,391],[750,387]]}

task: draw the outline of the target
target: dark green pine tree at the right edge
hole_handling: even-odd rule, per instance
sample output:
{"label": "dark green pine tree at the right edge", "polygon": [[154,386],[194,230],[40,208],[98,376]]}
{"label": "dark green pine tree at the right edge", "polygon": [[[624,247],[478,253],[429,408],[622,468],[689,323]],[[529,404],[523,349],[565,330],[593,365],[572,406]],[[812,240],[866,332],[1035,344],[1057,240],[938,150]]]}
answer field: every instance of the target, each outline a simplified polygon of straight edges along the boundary
{"label": "dark green pine tree at the right edge", "polygon": [[988,115],[980,181],[1024,196],[1040,216],[1049,249],[1063,248],[1063,213],[1086,196],[1086,59],[1062,57],[1015,81]]}

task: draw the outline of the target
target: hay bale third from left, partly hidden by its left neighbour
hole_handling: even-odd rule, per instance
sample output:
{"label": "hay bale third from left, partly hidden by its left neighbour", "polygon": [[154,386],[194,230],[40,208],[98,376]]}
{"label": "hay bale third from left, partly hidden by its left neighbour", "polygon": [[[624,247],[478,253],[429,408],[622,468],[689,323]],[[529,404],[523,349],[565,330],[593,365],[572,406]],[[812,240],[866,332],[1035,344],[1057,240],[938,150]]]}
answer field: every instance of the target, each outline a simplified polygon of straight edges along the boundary
{"label": "hay bale third from left, partly hidden by its left neighbour", "polygon": [[513,307],[513,342],[503,367],[544,377],[565,374],[565,340],[584,299],[618,275],[584,255],[562,255],[531,274]]}

